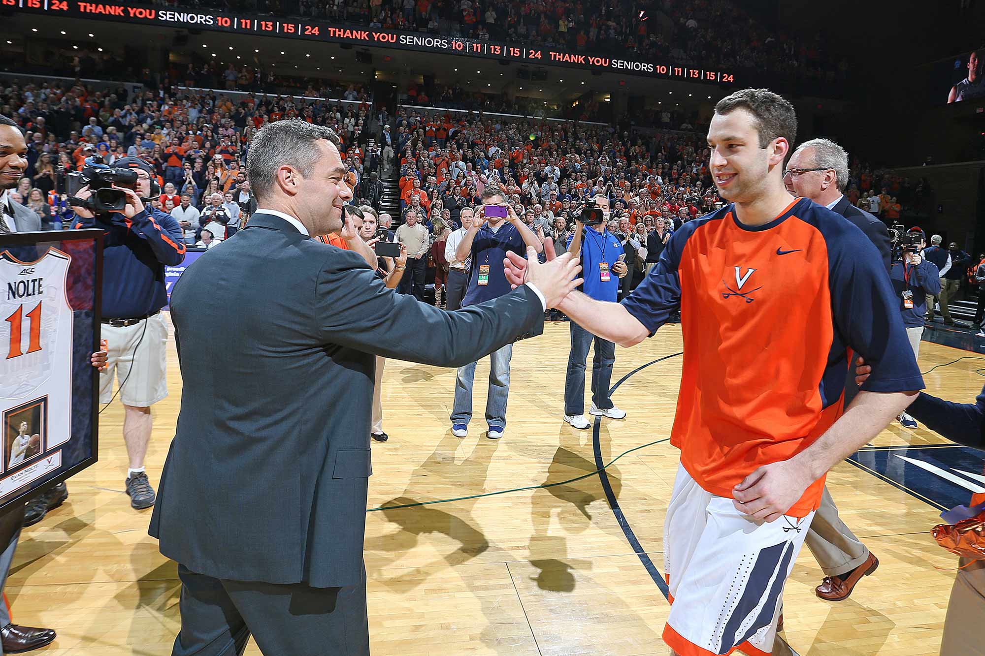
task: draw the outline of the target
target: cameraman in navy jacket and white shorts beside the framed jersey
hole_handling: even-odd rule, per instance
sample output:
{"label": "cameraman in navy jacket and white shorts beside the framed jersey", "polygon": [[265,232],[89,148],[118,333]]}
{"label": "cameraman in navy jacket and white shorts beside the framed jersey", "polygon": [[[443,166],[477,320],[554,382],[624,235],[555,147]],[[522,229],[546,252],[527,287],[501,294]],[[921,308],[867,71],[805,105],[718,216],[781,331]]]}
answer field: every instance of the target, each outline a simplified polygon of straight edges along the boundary
{"label": "cameraman in navy jacket and white shorts beside the framed jersey", "polygon": [[167,303],[164,266],[181,264],[185,244],[173,217],[145,205],[144,199],[151,197],[151,164],[127,157],[115,167],[137,173],[134,188],[113,185],[126,196],[122,212],[96,213],[81,205],[93,196],[88,185],[70,203],[77,218],[75,229],[104,231],[102,336],[109,341],[109,355],[99,374],[99,403],[112,401],[115,371],[129,458],[126,492],[130,505],[140,509],[154,505],[156,499],[144,458],[153,427],[151,406],[167,396],[167,326],[161,315]]}

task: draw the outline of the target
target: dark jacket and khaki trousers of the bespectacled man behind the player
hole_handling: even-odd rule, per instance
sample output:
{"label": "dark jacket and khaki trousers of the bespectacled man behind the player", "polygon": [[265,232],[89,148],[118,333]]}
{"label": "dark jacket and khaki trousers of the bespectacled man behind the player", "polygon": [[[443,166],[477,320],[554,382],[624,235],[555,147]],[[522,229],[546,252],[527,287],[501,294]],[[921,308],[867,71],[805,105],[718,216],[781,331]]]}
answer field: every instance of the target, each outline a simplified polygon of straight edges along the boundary
{"label": "dark jacket and khaki trousers of the bespectacled man behind the player", "polygon": [[[831,210],[865,232],[869,240],[879,249],[879,254],[883,256],[886,275],[888,275],[892,266],[892,249],[886,224],[876,216],[855,207],[844,196],[835,203]],[[855,384],[855,362],[853,359],[848,367],[848,378],[845,380],[844,406],[846,408],[857,393],[858,385]],[[804,542],[811,550],[814,558],[818,560],[825,576],[837,576],[850,572],[869,558],[869,550],[838,516],[838,508],[834,505],[830,492],[827,492],[827,486],[824,486],[824,492],[821,494],[821,505],[811,521],[811,527],[808,529],[807,538]]]}

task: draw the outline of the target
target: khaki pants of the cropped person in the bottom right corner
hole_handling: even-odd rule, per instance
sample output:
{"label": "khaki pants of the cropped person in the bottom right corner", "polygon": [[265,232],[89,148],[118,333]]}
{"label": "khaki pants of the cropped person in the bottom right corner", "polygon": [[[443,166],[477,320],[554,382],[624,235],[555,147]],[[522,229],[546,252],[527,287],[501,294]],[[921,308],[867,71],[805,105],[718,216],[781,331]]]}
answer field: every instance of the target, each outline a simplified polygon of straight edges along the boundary
{"label": "khaki pants of the cropped person in the bottom right corner", "polygon": [[961,558],[959,565],[963,568],[951,589],[941,656],[980,654],[985,645],[985,560]]}

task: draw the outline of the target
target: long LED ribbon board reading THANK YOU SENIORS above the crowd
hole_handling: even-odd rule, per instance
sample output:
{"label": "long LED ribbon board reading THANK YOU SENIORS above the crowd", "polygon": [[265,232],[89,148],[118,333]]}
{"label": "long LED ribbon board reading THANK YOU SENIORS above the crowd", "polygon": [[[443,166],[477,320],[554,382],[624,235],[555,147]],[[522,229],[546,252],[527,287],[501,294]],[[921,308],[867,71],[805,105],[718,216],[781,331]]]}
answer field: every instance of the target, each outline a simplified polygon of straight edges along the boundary
{"label": "long LED ribbon board reading THANK YOU SENIORS above the crowd", "polygon": [[132,4],[82,2],[80,0],[0,0],[0,6],[16,7],[47,16],[123,21],[190,30],[264,34],[285,38],[304,38],[332,43],[378,46],[424,52],[468,55],[486,59],[508,59],[531,64],[567,66],[585,70],[611,70],[629,75],[670,78],[689,82],[732,84],[732,72],[693,68],[671,62],[640,61],[571,52],[522,43],[405,33],[379,28],[354,28],[326,21],[276,20],[251,14],[174,11]]}

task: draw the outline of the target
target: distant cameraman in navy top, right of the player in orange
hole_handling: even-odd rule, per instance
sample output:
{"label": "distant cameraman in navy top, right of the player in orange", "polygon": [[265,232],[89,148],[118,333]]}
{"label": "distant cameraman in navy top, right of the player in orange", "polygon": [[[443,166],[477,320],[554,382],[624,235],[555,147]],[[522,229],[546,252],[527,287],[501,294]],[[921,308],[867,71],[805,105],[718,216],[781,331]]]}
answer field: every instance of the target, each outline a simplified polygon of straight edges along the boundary
{"label": "distant cameraman in navy top, right of the player in orange", "polygon": [[[899,296],[899,311],[903,315],[903,325],[906,335],[910,338],[913,357],[920,355],[920,338],[924,331],[924,312],[927,311],[927,297],[941,294],[940,273],[937,265],[920,256],[927,245],[922,232],[910,231],[906,236],[913,241],[903,245],[903,255],[892,263],[889,279],[892,289]],[[920,241],[915,241],[921,235]],[[907,428],[917,427],[916,420],[901,413],[897,418],[899,423]]]}

